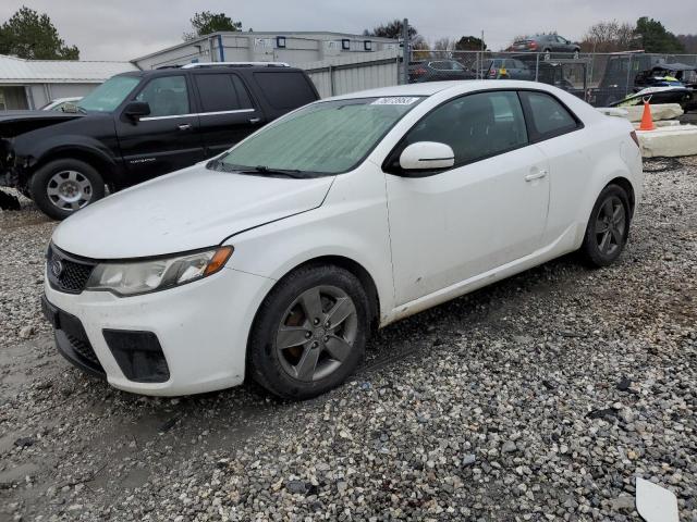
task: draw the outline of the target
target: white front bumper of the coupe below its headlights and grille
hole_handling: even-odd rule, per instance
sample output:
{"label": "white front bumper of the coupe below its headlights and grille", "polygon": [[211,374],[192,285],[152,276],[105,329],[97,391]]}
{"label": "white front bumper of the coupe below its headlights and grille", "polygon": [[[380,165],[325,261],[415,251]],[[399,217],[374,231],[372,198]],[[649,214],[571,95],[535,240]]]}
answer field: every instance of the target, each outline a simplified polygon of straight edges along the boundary
{"label": "white front bumper of the coupe below its headlights and grille", "polygon": [[[45,313],[49,318],[58,314],[58,323],[52,321],[57,348],[78,368],[106,377],[109,384],[126,391],[189,395],[244,381],[249,328],[273,283],[228,268],[195,283],[132,297],[108,291],[65,294],[46,283]],[[94,350],[96,364],[85,356],[85,345],[75,344],[81,339],[80,328]],[[169,378],[129,378],[109,347],[105,331],[107,335],[113,331],[151,333],[167,361]]]}

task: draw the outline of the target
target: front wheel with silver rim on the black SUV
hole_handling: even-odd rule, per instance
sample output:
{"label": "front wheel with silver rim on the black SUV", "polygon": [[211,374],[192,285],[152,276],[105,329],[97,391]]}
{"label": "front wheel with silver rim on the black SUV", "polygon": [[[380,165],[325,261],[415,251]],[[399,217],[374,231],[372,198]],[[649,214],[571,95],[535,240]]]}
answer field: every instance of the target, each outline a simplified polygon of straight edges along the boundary
{"label": "front wheel with silver rim on the black SUV", "polygon": [[64,220],[105,197],[105,182],[97,170],[80,160],[54,160],[29,179],[32,199],[49,217]]}

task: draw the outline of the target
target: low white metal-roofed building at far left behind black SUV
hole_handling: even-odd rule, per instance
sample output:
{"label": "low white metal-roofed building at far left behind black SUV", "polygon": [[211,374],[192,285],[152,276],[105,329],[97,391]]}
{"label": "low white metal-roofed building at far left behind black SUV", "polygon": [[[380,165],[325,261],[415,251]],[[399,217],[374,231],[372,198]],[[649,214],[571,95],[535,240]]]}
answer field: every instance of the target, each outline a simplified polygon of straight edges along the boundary
{"label": "low white metal-roofed building at far left behind black SUV", "polygon": [[130,62],[23,60],[0,54],[0,110],[38,109],[56,98],[85,96]]}

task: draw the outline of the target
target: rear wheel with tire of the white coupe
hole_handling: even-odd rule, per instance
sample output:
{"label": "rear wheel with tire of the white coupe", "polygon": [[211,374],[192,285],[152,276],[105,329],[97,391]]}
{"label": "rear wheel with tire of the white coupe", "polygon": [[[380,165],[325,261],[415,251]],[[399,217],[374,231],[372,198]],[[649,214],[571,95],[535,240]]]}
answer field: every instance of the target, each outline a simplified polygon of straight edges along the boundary
{"label": "rear wheel with tire of the white coupe", "polygon": [[579,250],[584,262],[592,268],[614,263],[629,237],[631,221],[626,191],[619,185],[608,185],[598,196],[586,225]]}

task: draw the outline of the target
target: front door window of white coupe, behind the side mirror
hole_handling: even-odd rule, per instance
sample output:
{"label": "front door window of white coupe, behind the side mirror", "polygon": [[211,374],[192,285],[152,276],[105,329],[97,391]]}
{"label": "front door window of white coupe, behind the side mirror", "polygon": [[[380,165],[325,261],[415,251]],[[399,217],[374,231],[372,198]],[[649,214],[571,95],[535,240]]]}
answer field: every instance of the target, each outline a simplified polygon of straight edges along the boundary
{"label": "front door window of white coupe, behind the side mirror", "polygon": [[452,147],[455,165],[527,144],[523,109],[514,91],[464,96],[435,109],[405,137],[404,146],[438,141]]}

